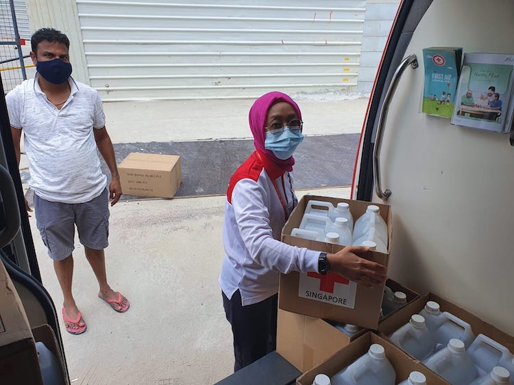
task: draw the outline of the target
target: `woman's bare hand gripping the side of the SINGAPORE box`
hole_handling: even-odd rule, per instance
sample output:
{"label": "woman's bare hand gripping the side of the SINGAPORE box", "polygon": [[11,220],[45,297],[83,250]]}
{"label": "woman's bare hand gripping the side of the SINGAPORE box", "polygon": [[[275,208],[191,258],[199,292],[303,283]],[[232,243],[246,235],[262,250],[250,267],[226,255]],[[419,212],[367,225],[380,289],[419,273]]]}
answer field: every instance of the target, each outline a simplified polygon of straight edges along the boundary
{"label": "woman's bare hand gripping the side of the SINGAPORE box", "polygon": [[365,246],[346,246],[336,254],[327,254],[330,271],[367,287],[382,284],[387,279],[387,268],[358,256],[368,251]]}

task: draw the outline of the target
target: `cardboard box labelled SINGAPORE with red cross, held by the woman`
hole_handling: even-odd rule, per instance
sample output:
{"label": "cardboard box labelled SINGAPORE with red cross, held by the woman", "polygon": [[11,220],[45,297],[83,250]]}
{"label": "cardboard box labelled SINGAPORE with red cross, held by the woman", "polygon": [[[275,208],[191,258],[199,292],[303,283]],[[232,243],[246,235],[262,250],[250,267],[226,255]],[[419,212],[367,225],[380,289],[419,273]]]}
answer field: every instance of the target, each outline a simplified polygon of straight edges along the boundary
{"label": "cardboard box labelled SINGAPORE with red cross, held by the woman", "polygon": [[[324,200],[332,202],[334,206],[338,202],[347,202],[350,204],[350,212],[356,219],[363,215],[368,205],[371,204],[370,202],[360,200],[308,195],[298,202],[297,207],[291,213],[284,228],[282,228],[282,241],[289,245],[329,253],[338,252],[343,249],[343,246],[310,241],[291,235],[291,230],[299,227],[300,222],[302,222],[302,217],[309,200]],[[388,225],[388,248],[391,248],[391,207],[387,204],[376,205],[380,207],[380,215],[382,215]],[[365,258],[386,266],[389,263],[389,254],[380,252],[368,252]],[[378,327],[383,291],[383,284],[368,288],[330,272],[326,276],[321,276],[317,273],[292,272],[280,275],[278,306],[293,313],[302,313],[313,317],[376,329]]]}

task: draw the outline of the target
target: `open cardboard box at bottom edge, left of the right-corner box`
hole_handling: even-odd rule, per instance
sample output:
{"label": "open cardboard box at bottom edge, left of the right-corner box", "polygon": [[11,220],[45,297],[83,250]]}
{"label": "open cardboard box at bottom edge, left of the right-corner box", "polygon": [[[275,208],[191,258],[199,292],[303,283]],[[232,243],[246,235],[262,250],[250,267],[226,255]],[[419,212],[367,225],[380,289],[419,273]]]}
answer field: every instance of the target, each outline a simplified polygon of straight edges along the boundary
{"label": "open cardboard box at bottom edge, left of the right-corner box", "polygon": [[373,332],[367,332],[363,336],[356,338],[350,345],[337,351],[336,354],[328,358],[328,360],[321,362],[321,364],[302,374],[296,380],[296,384],[312,385],[314,377],[319,373],[324,373],[328,375],[328,377],[332,377],[332,375],[347,367],[357,358],[366,354],[371,344],[374,343],[378,343],[384,347],[387,359],[391,362],[395,370],[396,383],[406,380],[411,371],[419,371],[426,376],[427,384],[449,384],[449,382],[446,382],[443,378],[439,377],[439,375],[430,371],[430,369],[419,361],[408,356],[404,351]]}

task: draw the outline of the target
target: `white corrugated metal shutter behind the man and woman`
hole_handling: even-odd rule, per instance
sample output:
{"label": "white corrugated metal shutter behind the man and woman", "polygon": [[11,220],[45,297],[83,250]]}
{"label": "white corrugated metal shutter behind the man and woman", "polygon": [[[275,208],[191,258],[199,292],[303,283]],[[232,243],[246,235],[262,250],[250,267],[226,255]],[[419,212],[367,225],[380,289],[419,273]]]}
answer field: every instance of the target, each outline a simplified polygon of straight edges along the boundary
{"label": "white corrugated metal shutter behind the man and woman", "polygon": [[351,91],[366,1],[76,0],[103,101]]}

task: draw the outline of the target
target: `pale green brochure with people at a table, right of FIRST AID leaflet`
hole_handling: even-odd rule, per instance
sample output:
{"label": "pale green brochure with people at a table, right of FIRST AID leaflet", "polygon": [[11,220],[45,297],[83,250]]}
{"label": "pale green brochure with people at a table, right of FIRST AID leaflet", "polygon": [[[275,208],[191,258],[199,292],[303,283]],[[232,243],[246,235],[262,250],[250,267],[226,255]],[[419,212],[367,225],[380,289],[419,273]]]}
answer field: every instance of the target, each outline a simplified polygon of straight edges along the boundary
{"label": "pale green brochure with people at a table, right of FIRST AID leaflet", "polygon": [[514,54],[465,53],[452,124],[509,133],[513,82]]}

